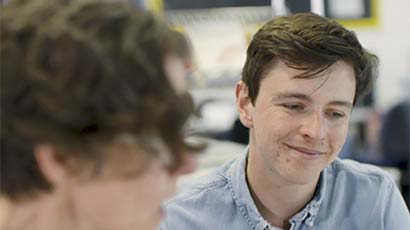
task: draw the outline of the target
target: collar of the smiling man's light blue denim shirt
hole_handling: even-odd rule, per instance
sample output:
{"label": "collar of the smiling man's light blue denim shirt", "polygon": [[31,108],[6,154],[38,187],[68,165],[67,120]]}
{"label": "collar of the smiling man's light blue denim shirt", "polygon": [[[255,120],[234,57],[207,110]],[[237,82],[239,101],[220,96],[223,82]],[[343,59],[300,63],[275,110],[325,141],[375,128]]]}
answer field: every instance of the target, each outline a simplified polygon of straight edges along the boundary
{"label": "collar of the smiling man's light blue denim shirt", "polygon": [[[244,153],[237,161],[229,168],[227,178],[231,195],[244,216],[248,224],[254,229],[266,229],[270,224],[262,217],[256,208],[255,202],[246,182],[246,165],[249,153],[249,146],[244,150]],[[321,173],[319,183],[312,200],[300,212],[294,215],[290,221],[302,223],[308,226],[313,226],[314,219],[318,213],[319,206],[323,200],[325,193],[326,169]]]}

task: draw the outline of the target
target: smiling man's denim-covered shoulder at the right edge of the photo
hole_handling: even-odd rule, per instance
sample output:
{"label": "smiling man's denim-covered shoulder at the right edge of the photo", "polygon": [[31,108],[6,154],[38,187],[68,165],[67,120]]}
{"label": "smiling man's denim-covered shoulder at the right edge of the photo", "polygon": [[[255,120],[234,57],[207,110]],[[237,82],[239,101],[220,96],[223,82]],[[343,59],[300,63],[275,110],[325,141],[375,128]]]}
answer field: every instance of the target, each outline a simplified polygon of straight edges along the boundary
{"label": "smiling man's denim-covered shoulder at the right edge of the photo", "polygon": [[337,229],[400,226],[392,229],[408,229],[402,227],[408,226],[404,202],[393,179],[383,169],[337,159],[325,169],[324,178],[322,208],[317,215],[320,226],[339,226]]}

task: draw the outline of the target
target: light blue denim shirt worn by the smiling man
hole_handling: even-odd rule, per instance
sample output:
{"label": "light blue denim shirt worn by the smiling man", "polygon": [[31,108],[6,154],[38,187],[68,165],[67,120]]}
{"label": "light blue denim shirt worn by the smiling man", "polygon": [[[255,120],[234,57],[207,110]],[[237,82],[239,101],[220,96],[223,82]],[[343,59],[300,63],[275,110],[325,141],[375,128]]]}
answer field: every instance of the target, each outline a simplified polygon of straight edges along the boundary
{"label": "light blue denim shirt worn by the smiling man", "polygon": [[[199,179],[166,205],[161,230],[273,230],[245,179],[247,152]],[[292,230],[410,230],[410,214],[381,169],[336,159],[321,174],[312,200],[290,219]]]}

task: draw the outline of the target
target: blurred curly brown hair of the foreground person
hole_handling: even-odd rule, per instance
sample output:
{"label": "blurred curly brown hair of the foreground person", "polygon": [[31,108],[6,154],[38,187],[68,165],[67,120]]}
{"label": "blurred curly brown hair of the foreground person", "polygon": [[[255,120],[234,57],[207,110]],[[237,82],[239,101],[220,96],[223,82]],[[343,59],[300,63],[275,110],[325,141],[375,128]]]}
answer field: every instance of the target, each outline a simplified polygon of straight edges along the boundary
{"label": "blurred curly brown hair of the foreground person", "polygon": [[173,36],[164,23],[126,2],[30,0],[3,8],[3,194],[50,190],[33,156],[40,143],[65,150],[62,158],[98,164],[92,144],[153,133],[171,152],[170,170],[182,152],[197,150],[183,140],[192,100],[175,92],[163,67],[171,50],[164,41]]}

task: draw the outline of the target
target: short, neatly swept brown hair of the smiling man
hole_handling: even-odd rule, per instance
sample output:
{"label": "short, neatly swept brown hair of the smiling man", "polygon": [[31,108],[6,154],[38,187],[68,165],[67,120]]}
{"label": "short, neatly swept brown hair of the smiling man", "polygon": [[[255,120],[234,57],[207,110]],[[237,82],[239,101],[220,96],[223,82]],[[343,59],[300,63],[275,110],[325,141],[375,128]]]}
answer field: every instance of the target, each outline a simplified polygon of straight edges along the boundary
{"label": "short, neatly swept brown hair of the smiling man", "polygon": [[378,67],[377,57],[361,46],[354,32],[333,20],[313,13],[277,17],[259,29],[247,50],[242,80],[253,103],[260,81],[278,60],[304,70],[306,77],[346,61],[356,75],[354,104],[372,87]]}

